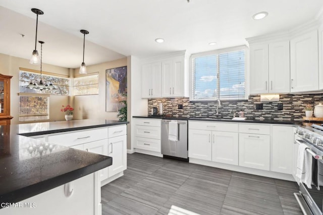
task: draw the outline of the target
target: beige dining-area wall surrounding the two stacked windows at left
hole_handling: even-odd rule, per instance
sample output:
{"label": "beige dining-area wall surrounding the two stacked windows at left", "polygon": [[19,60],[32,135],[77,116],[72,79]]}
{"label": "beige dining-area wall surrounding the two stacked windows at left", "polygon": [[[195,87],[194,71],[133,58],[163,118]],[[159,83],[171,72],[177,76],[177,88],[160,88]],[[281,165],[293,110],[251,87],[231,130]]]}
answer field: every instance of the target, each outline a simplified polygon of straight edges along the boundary
{"label": "beige dining-area wall surrounding the two stacked windows at left", "polygon": [[[19,124],[19,67],[40,70],[39,65],[29,64],[29,60],[12,57],[0,53],[0,73],[13,76],[11,79],[11,120],[12,124]],[[42,70],[50,73],[69,75],[69,69],[43,64]],[[55,83],[53,83],[55,85]],[[50,121],[65,120],[64,114],[61,113],[61,106],[68,104],[69,96],[50,95],[49,98],[49,119]],[[37,121],[39,122],[39,121]],[[30,122],[29,122],[30,123]]]}

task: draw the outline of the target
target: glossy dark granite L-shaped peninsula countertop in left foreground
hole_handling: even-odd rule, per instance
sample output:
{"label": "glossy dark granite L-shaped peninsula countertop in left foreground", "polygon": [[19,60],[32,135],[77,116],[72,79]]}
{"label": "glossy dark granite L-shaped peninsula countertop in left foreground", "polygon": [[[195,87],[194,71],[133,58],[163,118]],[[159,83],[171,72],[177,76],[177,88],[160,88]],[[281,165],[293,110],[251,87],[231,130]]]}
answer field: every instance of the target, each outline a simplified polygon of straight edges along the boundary
{"label": "glossy dark granite L-shaped peninsula countertop in left foreground", "polygon": [[28,136],[128,123],[73,120],[0,126],[0,202],[18,202],[112,165],[112,157]]}

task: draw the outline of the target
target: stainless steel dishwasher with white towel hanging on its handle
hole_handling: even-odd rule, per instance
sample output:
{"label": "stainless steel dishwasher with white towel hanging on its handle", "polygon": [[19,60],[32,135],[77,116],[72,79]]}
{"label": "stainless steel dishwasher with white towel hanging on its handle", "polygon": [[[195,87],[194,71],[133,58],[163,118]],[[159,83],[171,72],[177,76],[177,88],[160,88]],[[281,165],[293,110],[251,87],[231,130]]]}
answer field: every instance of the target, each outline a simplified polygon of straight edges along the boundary
{"label": "stainless steel dishwasher with white towel hanging on its handle", "polygon": [[164,157],[188,162],[187,120],[177,120],[178,141],[168,139],[170,122],[161,121],[161,153]]}

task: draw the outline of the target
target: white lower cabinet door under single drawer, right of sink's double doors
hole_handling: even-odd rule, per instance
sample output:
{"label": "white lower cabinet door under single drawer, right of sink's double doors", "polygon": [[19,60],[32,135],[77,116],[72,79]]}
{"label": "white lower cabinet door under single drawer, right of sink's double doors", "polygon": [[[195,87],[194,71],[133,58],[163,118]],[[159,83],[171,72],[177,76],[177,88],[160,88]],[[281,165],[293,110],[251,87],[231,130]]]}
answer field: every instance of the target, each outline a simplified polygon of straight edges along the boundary
{"label": "white lower cabinet door under single drawer, right of sink's double doors", "polygon": [[239,166],[270,170],[270,135],[239,134]]}

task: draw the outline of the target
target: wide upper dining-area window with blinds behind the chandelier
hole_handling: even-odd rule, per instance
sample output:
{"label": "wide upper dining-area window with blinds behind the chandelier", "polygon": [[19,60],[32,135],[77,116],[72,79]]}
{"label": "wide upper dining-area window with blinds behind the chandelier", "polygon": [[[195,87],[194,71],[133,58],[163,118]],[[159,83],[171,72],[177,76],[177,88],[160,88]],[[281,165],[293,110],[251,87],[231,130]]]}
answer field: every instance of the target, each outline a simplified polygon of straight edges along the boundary
{"label": "wide upper dining-area window with blinds behind the chandelier", "polygon": [[[19,92],[39,93],[39,94],[53,94],[53,95],[69,95],[70,94],[70,79],[56,74],[48,74],[42,72],[42,80],[50,81],[56,89],[53,90],[37,90],[29,89],[26,86],[32,79],[40,80],[40,72],[20,68],[19,77]],[[44,74],[45,73],[45,74]]]}

